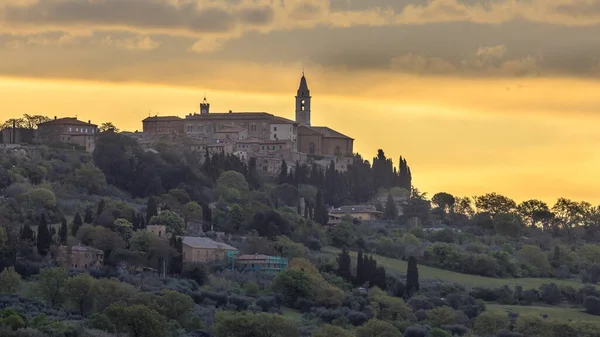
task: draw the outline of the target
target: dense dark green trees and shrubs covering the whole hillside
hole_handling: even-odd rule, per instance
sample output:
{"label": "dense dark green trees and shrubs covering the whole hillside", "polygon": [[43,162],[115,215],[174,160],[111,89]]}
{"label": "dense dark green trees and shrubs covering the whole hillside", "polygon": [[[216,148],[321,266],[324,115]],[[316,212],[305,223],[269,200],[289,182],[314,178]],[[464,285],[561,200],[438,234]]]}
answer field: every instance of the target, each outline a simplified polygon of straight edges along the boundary
{"label": "dense dark green trees and shrubs covering the whole hillside", "polygon": [[[253,160],[153,149],[103,133],[92,155],[1,153],[1,336],[598,336],[600,209],[587,202],[429,199],[381,150],[346,172],[286,163],[268,178]],[[384,220],[325,226],[328,206],[374,199]],[[175,237],[202,232],[289,266],[183,263]],[[102,268],[60,268],[58,247],[77,243],[101,249]]]}

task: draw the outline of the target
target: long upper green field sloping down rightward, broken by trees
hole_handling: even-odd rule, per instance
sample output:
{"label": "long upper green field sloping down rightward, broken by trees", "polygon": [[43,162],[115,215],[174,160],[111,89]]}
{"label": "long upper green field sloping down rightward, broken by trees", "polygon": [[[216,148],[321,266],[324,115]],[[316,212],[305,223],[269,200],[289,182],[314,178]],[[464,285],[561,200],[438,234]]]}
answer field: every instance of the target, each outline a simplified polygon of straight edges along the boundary
{"label": "long upper green field sloping down rightward, broken by trees", "polygon": [[[341,250],[335,247],[324,247],[323,251],[331,254],[338,254]],[[350,252],[350,256],[356,261],[356,252]],[[406,261],[392,259],[381,255],[373,255],[373,258],[377,260],[377,264],[385,267],[387,270],[393,270],[401,274],[406,274],[406,268],[408,263]],[[496,288],[503,285],[511,287],[520,285],[524,289],[539,288],[542,284],[555,283],[557,285],[572,286],[575,289],[579,289],[583,284],[578,280],[558,280],[549,278],[491,278],[476,275],[461,274],[449,270],[419,266],[419,277],[425,279],[436,279],[450,282],[456,282],[469,287],[486,287]]]}

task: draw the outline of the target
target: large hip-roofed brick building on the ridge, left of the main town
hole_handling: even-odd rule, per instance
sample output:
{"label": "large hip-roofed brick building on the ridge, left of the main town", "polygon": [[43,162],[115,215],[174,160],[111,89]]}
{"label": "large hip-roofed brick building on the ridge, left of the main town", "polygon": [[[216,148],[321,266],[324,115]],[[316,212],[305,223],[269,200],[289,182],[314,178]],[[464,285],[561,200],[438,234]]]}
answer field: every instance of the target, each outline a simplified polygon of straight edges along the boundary
{"label": "large hip-roofed brick building on the ridge, left of the main town", "polygon": [[94,151],[98,126],[75,117],[56,118],[38,124],[37,139],[42,144],[65,143]]}

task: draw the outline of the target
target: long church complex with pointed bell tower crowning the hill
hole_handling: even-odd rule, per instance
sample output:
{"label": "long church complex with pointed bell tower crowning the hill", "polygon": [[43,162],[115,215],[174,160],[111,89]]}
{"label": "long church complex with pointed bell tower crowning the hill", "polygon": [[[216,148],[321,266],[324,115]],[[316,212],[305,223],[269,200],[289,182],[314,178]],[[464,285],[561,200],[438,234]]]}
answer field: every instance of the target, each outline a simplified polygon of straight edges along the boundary
{"label": "long church complex with pointed bell tower crowning the hill", "polygon": [[296,93],[295,121],[267,112],[212,112],[206,97],[200,113],[185,118],[152,116],[144,119],[148,135],[186,136],[193,139],[233,143],[235,150],[258,149],[300,152],[313,156],[352,156],[354,139],[326,126],[311,125],[311,95],[304,73]]}

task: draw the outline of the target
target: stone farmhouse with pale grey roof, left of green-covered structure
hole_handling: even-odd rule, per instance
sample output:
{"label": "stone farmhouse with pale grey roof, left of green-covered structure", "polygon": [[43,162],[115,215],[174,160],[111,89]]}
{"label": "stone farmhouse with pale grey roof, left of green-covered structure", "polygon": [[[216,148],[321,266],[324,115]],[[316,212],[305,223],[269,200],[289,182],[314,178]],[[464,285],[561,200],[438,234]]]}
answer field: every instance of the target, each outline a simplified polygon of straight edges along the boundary
{"label": "stone farmhouse with pale grey roof, left of green-covered structure", "polygon": [[226,243],[216,242],[207,237],[183,237],[183,262],[204,263],[225,260],[227,252],[237,252],[237,248]]}

